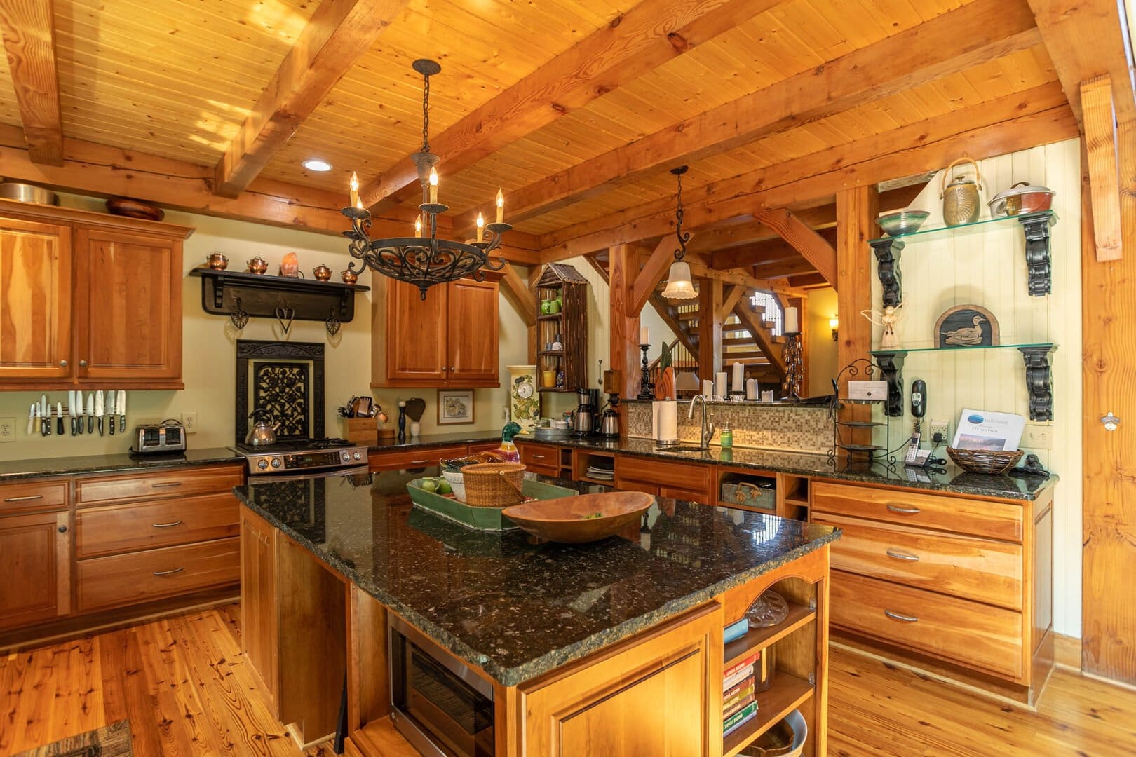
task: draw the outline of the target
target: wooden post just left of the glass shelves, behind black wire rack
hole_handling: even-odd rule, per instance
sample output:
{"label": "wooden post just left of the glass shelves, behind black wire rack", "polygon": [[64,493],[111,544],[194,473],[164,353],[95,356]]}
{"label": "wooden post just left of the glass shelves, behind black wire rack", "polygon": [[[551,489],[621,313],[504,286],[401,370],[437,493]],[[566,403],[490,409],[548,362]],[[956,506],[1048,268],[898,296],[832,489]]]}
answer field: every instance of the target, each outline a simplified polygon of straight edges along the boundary
{"label": "wooden post just left of the glass shelves, behind black wire rack", "polygon": [[[836,347],[836,370],[857,358],[868,358],[871,350],[871,323],[861,310],[871,308],[871,249],[868,239],[876,236],[879,191],[860,186],[836,193],[836,291],[837,318],[841,322]],[[859,378],[866,378],[860,371]],[[841,379],[841,396],[847,396],[847,376]],[[849,405],[844,420],[871,420],[867,405]],[[870,444],[870,431],[845,435],[853,444]]]}

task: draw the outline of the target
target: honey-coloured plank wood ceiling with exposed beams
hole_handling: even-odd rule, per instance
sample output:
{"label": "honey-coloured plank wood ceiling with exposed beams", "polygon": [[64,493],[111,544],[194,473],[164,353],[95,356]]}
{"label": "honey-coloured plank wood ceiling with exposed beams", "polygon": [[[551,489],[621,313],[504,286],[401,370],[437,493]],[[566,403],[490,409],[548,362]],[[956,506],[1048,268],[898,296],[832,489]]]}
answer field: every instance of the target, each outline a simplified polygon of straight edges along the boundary
{"label": "honey-coloured plank wood ceiling with exposed beams", "polygon": [[[469,228],[503,187],[517,229],[507,244],[529,251],[528,260],[665,234],[675,193],[668,170],[682,163],[690,163],[684,196],[696,207],[1029,116],[1022,128],[1036,138],[1076,135],[1026,0],[323,0],[325,8],[319,0],[0,0],[15,64],[0,65],[0,124],[9,132],[0,171],[89,192],[100,188],[66,173],[12,169],[10,133],[27,126],[14,79],[34,81],[37,69],[20,58],[20,35],[34,36],[33,8],[45,5],[69,161],[109,145],[184,163],[218,195],[184,207],[256,217],[251,200],[219,196],[226,152],[232,159],[256,144],[247,120],[256,120],[258,100],[306,87],[273,103],[285,111],[278,131],[291,137],[261,150],[229,194],[250,182],[294,187],[296,196],[310,190],[318,213],[293,220],[321,230],[345,227],[334,209],[345,204],[352,170],[377,217],[401,222],[417,212],[408,155],[421,138],[421,78],[410,64],[438,60],[431,143],[453,228]],[[360,8],[374,28],[351,16]],[[309,23],[335,19],[346,20],[319,37],[331,37],[326,49],[306,41]],[[318,75],[287,67],[298,41],[312,48],[300,68]],[[337,72],[335,60],[353,62]],[[287,112],[298,102],[309,104]],[[944,150],[1017,149],[1013,137],[958,140]],[[308,158],[334,169],[308,171]],[[850,180],[947,162],[935,160],[912,159],[907,171],[879,165]],[[204,169],[218,166],[210,183]],[[820,183],[782,204],[821,205],[836,188]],[[744,208],[730,212],[695,209],[688,218],[752,224]]]}

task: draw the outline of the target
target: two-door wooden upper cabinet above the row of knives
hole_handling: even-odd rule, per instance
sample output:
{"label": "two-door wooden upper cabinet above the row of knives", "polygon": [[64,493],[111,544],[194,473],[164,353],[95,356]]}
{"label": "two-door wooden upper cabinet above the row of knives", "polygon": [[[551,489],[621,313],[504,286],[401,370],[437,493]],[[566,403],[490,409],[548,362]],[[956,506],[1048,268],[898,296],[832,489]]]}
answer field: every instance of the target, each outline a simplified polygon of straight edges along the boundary
{"label": "two-door wooden upper cabinet above the row of knives", "polygon": [[0,388],[182,388],[192,232],[0,200]]}

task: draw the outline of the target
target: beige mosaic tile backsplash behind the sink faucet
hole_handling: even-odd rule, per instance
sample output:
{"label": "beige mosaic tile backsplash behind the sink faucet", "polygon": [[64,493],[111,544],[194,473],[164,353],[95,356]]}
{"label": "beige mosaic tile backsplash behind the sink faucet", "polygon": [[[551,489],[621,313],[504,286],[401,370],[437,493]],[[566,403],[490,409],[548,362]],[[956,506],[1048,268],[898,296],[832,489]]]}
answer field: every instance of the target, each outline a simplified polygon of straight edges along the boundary
{"label": "beige mosaic tile backsplash behind the sink faucet", "polygon": [[[651,403],[626,402],[627,436],[651,438]],[[702,409],[695,407],[694,418],[686,418],[690,401],[678,403],[678,438],[699,443]],[[708,402],[707,414],[713,421],[718,444],[718,429],[728,420],[734,427],[735,447],[784,449],[786,452],[828,452],[833,446],[833,422],[827,406],[769,403]]]}

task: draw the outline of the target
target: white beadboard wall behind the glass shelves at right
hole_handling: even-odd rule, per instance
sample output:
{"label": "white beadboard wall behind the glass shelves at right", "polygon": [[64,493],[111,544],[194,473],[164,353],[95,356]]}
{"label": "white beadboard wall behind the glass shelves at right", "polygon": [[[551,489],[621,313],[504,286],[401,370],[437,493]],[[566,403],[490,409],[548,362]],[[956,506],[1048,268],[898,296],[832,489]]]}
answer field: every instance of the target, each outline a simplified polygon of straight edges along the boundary
{"label": "white beadboard wall behind the glass shelves at right", "polygon": [[[1031,297],[1026,287],[1025,241],[1020,225],[980,226],[908,239],[901,260],[903,320],[900,345],[929,347],[935,321],[947,308],[979,304],[999,321],[1002,344],[1052,342],[1054,420],[1053,449],[1030,449],[1061,477],[1054,494],[1054,630],[1080,636],[1081,574],[1081,321],[1080,321],[1080,143],[1069,140],[979,162],[985,202],[1017,182],[1043,184],[1056,192],[1053,209],[1060,220],[1051,229],[1053,291]],[[969,171],[969,167],[968,167]],[[958,175],[955,168],[952,175]],[[911,203],[930,211],[926,226],[942,226],[942,173]],[[947,179],[950,180],[950,178]],[[864,251],[871,254],[870,250]],[[874,268],[875,270],[875,268]],[[880,309],[880,285],[872,278],[874,308]],[[872,327],[872,344],[882,329]],[[950,434],[963,407],[1018,413],[1028,419],[1021,353],[1013,348],[960,353],[909,354],[903,367],[904,409],[911,381],[927,382],[925,420],[943,419]],[[904,415],[892,424],[892,446],[911,432]],[[926,427],[925,427],[926,431]],[[925,445],[926,446],[926,445]],[[1025,445],[1022,445],[1025,446]],[[945,454],[943,454],[945,456]]]}

